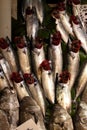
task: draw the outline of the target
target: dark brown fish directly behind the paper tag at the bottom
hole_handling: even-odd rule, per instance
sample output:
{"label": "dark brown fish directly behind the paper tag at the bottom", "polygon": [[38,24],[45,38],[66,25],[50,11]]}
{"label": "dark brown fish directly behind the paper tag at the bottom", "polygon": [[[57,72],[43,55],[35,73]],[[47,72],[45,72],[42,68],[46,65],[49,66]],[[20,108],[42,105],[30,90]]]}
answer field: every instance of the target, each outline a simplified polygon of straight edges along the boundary
{"label": "dark brown fish directly behind the paper tag at the bottom", "polygon": [[41,109],[32,97],[25,96],[21,100],[19,112],[20,125],[25,121],[32,119],[40,130],[46,130]]}

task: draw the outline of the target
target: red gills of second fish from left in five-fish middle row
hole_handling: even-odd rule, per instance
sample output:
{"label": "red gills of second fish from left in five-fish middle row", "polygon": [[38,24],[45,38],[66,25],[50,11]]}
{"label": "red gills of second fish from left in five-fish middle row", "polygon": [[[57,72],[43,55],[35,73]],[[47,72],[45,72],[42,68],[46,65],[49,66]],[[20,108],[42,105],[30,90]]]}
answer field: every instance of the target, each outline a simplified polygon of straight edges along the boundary
{"label": "red gills of second fish from left in five-fish middle row", "polygon": [[20,49],[26,47],[26,43],[25,43],[23,37],[21,37],[21,36],[15,37],[14,42],[16,43],[16,46]]}

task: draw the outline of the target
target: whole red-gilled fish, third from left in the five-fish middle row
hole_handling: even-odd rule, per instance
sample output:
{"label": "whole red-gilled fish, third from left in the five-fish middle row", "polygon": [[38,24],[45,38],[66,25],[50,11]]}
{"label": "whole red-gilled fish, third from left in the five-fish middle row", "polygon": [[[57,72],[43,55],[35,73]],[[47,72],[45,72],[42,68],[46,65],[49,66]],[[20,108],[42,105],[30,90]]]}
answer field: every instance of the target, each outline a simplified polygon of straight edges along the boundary
{"label": "whole red-gilled fish, third from left in the five-fish middle row", "polygon": [[43,40],[37,38],[35,40],[35,45],[32,50],[32,63],[33,63],[33,71],[39,80],[41,82],[41,70],[40,70],[40,64],[42,61],[45,60],[45,52],[43,48]]}

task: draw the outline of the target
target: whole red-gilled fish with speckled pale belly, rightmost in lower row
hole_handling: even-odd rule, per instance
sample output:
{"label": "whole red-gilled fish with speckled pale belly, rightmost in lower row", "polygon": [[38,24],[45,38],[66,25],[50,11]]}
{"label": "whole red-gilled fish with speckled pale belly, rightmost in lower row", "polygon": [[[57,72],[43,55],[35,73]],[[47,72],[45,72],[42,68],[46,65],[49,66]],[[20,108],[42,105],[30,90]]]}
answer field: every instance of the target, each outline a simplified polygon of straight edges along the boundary
{"label": "whole red-gilled fish with speckled pale belly, rightmost in lower row", "polygon": [[71,113],[71,91],[69,88],[70,72],[67,70],[56,77],[56,103],[60,104],[67,112]]}

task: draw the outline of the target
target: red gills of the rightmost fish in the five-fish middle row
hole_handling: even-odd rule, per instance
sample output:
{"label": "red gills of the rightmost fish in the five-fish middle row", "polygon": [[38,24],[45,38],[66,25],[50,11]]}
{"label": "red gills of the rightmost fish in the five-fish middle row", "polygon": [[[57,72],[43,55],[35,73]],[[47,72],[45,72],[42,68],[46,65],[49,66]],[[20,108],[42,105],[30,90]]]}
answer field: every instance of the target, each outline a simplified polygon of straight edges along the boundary
{"label": "red gills of the rightmost fish in the five-fish middle row", "polygon": [[80,40],[74,40],[71,44],[71,51],[77,53],[81,48],[81,41]]}

